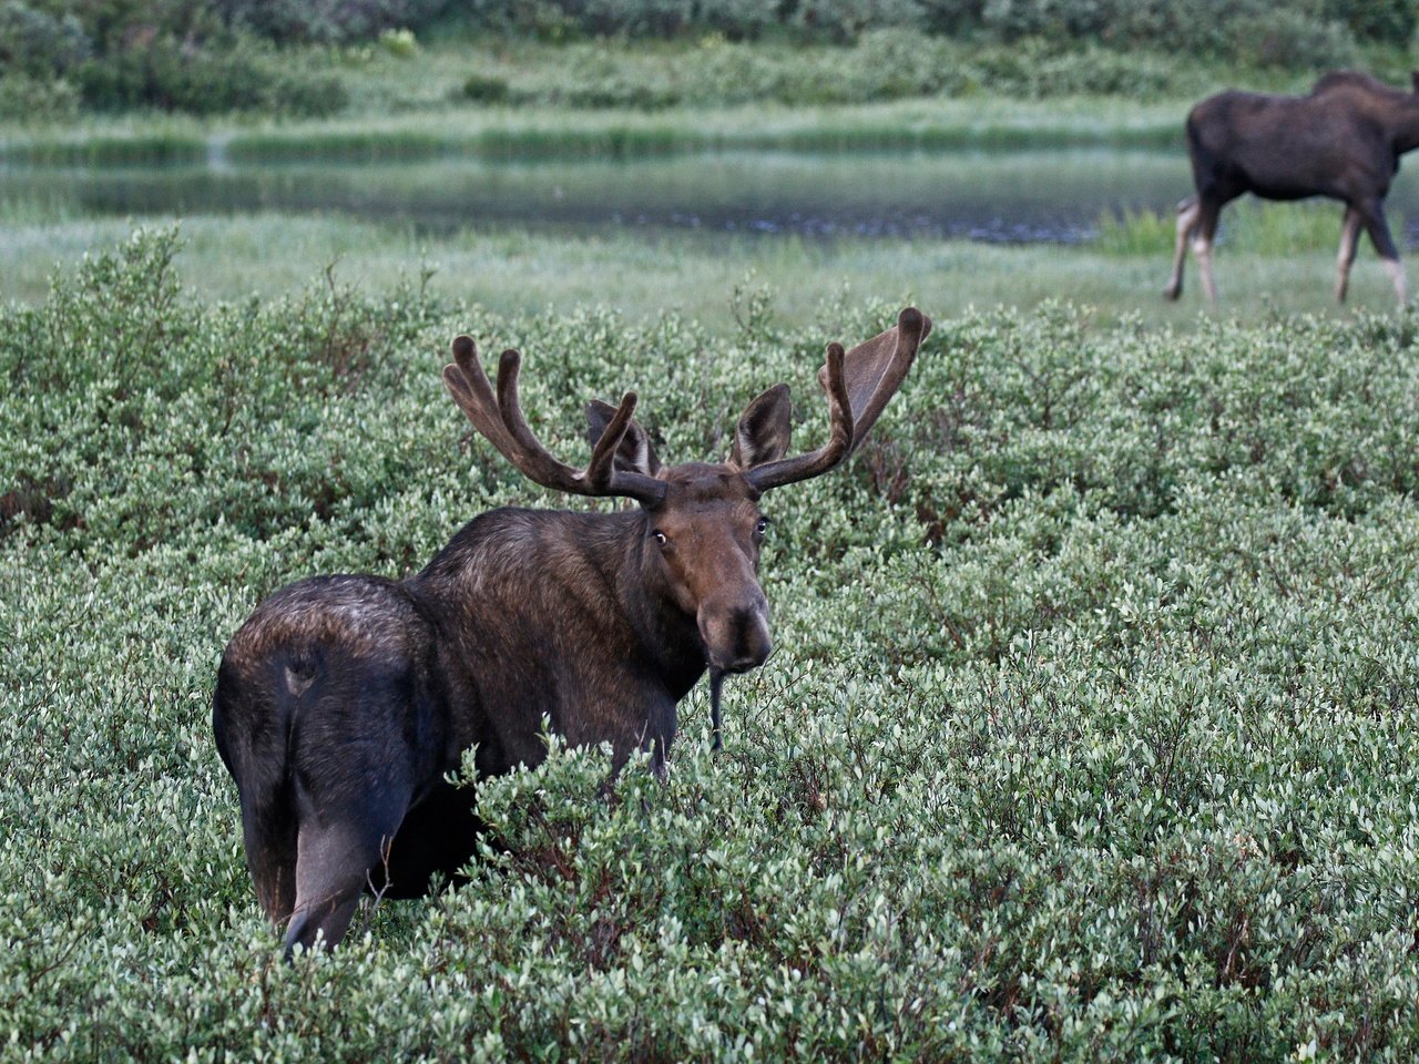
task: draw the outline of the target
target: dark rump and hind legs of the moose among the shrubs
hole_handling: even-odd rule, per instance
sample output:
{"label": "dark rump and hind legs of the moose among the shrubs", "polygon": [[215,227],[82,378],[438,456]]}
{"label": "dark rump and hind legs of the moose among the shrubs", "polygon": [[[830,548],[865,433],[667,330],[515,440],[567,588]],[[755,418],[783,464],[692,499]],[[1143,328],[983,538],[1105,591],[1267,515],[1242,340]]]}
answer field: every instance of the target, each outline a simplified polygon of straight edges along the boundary
{"label": "dark rump and hind legs of the moose among the shrubs", "polygon": [[430,846],[475,830],[471,793],[443,780],[458,750],[434,631],[407,586],[318,576],[267,599],[223,655],[217,750],[257,899],[272,921],[295,914],[292,942],[314,939],[312,921],[338,939],[363,890],[419,895],[467,857]]}

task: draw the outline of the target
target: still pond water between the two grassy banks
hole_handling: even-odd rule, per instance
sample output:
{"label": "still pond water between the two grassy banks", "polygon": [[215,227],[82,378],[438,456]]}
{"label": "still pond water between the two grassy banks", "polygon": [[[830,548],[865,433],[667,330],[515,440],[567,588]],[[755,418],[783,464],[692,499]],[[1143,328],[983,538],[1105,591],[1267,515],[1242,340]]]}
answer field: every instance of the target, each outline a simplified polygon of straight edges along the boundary
{"label": "still pond water between the two grassy banks", "polygon": [[[0,166],[10,199],[78,214],[349,213],[430,233],[467,227],[958,237],[1077,243],[1101,217],[1172,211],[1191,187],[1176,152],[711,152],[616,160]],[[1392,211],[1419,234],[1419,189]],[[1337,213],[1337,233],[1340,214]]]}

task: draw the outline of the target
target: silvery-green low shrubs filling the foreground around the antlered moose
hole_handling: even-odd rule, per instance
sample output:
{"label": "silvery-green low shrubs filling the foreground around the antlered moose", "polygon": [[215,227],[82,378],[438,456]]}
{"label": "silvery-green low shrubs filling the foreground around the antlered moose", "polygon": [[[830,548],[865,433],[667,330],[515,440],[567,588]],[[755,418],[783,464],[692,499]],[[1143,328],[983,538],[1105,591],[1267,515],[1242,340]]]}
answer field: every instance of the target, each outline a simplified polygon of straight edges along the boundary
{"label": "silvery-green low shrubs filling the foreground around the antlered moose", "polygon": [[634,384],[719,455],[827,338],[749,298],[498,321],[419,278],[199,304],[172,234],[0,311],[7,1058],[1412,1060],[1416,319],[954,316],[849,468],[776,494],[779,651],[685,706],[668,786],[558,750],[505,853],[294,968],[211,745],[226,637],[299,575],[400,575],[519,480],[441,393]]}

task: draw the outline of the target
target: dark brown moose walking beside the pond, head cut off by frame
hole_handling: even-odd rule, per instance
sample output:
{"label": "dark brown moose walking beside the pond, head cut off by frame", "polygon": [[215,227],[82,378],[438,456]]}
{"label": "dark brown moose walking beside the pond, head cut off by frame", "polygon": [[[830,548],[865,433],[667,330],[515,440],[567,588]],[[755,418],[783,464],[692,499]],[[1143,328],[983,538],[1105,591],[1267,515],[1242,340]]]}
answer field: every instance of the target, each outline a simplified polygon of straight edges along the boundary
{"label": "dark brown moose walking beside the pond, head cut off by frame", "polygon": [[1419,72],[1412,92],[1357,71],[1327,74],[1305,96],[1220,92],[1191,111],[1186,129],[1198,192],[1178,204],[1178,243],[1165,297],[1176,299],[1182,294],[1191,241],[1202,288],[1216,302],[1212,240],[1218,216],[1250,192],[1267,200],[1341,200],[1345,220],[1335,298],[1345,301],[1364,227],[1403,305],[1405,270],[1385,221],[1385,194],[1399,172],[1399,157],[1419,148]]}

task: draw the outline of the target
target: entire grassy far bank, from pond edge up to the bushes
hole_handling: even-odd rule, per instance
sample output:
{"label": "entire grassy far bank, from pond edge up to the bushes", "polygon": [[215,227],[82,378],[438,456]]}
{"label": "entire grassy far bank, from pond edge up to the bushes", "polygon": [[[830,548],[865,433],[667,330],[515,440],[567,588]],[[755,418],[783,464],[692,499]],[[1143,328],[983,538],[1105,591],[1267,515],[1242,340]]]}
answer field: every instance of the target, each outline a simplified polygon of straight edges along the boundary
{"label": "entire grassy far bank, from pond edge up to the bushes", "polygon": [[[1097,54],[1095,54],[1097,52]],[[329,119],[84,116],[0,126],[0,162],[40,165],[481,155],[633,155],[708,148],[1181,146],[1182,115],[1226,84],[1301,89],[1310,72],[1235,71],[1178,57],[1039,45],[982,50],[877,33],[854,48],[758,43],[438,43],[399,58],[328,50]],[[983,67],[981,64],[985,62]],[[1088,77],[1108,70],[1117,77]],[[1132,72],[1132,74],[1131,74]],[[470,99],[470,75],[508,87]],[[648,101],[648,102],[647,102]]]}

